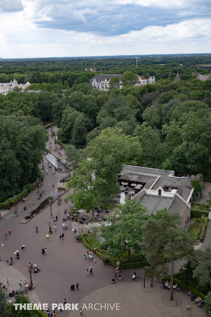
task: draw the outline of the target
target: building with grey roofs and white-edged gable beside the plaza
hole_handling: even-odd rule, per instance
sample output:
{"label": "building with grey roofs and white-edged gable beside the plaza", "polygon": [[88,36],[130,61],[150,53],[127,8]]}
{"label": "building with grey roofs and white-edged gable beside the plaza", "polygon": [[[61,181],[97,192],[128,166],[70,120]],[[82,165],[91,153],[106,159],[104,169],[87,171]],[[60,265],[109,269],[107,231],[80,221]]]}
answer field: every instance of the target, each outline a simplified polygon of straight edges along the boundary
{"label": "building with grey roofs and white-edged gable beside the plaza", "polygon": [[178,212],[185,227],[190,218],[190,198],[194,191],[187,184],[187,176],[175,175],[174,171],[125,165],[118,181],[128,184],[141,184],[142,189],[131,199],[141,197],[150,213],[167,208],[170,213]]}

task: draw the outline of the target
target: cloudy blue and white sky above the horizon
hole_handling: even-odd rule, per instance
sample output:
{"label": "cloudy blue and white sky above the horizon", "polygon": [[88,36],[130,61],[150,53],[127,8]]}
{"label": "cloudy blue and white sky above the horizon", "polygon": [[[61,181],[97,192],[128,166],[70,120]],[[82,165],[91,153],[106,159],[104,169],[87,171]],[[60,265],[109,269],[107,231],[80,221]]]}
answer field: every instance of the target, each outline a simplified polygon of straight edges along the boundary
{"label": "cloudy blue and white sky above the horizon", "polygon": [[3,58],[211,52],[210,0],[0,0]]}

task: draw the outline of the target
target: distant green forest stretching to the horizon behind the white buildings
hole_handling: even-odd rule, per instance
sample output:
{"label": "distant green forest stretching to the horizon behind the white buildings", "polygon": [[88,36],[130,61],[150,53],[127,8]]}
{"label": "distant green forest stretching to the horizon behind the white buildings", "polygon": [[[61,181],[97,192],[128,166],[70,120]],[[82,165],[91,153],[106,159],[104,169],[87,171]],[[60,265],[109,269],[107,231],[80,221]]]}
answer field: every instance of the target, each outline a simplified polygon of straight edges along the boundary
{"label": "distant green forest stretching to the horizon behind the white buildings", "polygon": [[[0,82],[18,83],[58,83],[72,87],[79,84],[81,76],[86,75],[87,82],[94,74],[123,74],[133,71],[148,78],[155,75],[159,80],[168,77],[174,79],[179,69],[180,78],[188,80],[193,75],[193,67],[198,64],[211,63],[210,54],[192,55],[153,55],[139,56],[136,68],[136,57],[84,57],[84,58],[43,58],[16,59],[0,61]],[[96,73],[85,72],[85,67],[95,66]],[[201,74],[208,74],[209,69],[197,69]]]}

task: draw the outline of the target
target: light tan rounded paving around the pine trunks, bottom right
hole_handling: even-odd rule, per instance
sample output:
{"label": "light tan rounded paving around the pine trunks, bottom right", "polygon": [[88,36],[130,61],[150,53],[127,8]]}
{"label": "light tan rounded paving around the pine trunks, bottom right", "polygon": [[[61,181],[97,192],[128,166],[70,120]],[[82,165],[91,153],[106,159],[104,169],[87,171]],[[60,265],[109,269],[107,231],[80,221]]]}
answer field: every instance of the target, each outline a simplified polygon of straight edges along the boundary
{"label": "light tan rounded paving around the pine trunks, bottom right", "polygon": [[[91,278],[92,276],[88,277],[90,280]],[[160,284],[156,284],[157,290],[152,293],[145,293],[140,289],[140,285],[141,283],[138,281],[127,283],[117,281],[116,284],[106,286],[86,296],[80,301],[78,308],[82,308],[84,304],[86,304],[88,309],[90,307],[89,310],[86,310],[85,307],[83,308],[83,316],[85,317],[105,317],[111,315],[113,317],[208,316],[203,308],[197,307],[195,302],[190,301],[189,296],[186,296],[181,292],[176,291],[176,295],[179,295],[182,298],[182,304],[177,307],[169,307],[163,304],[161,297],[163,294],[170,293],[170,291],[163,290]],[[76,295],[79,292],[80,290],[78,292],[76,290]],[[75,293],[73,293],[73,297],[75,296]],[[95,308],[99,308],[99,310],[94,309],[94,304],[97,304],[95,305]],[[190,305],[190,310],[187,310],[186,305]],[[111,309],[111,307],[113,309]],[[116,310],[116,308],[119,310]],[[74,310],[70,313],[69,317],[78,317],[78,314],[79,311]]]}

